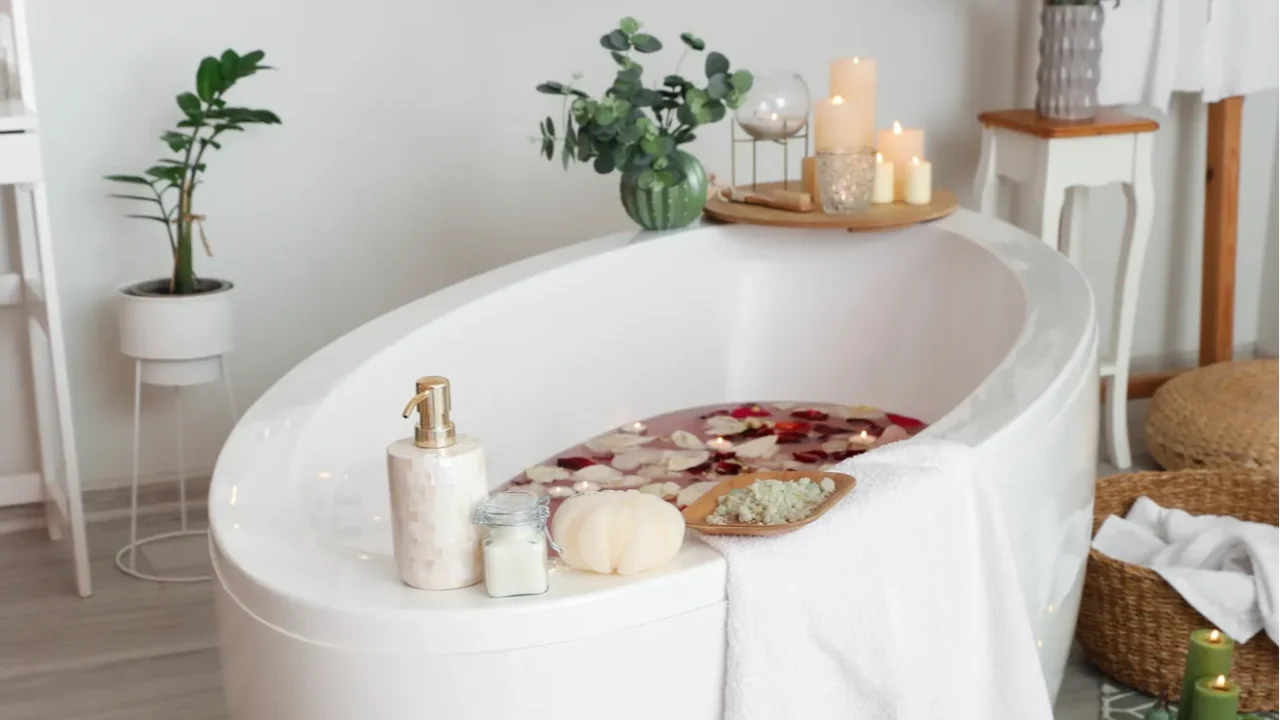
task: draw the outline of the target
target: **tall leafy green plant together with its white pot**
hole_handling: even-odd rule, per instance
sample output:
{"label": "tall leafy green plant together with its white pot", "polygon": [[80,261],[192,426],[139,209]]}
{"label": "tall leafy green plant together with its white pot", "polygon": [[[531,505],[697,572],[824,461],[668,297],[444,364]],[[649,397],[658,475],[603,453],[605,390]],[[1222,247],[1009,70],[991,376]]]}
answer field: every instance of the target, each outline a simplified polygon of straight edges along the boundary
{"label": "tall leafy green plant together with its white pot", "polygon": [[[195,270],[196,236],[209,250],[205,217],[193,209],[201,184],[206,152],[221,149],[232,132],[248,126],[279,124],[270,110],[241,108],[227,102],[227,92],[243,78],[270,69],[262,64],[261,50],[243,55],[227,50],[209,56],[196,70],[195,92],[178,95],[182,119],[160,140],[175,154],[160,159],[141,176],[106,176],[127,186],[114,193],[148,206],[148,211],[129,218],[159,223],[169,240],[173,270],[168,278],[129,283],[120,292],[120,350],[147,360],[143,379],[168,384],[191,384],[215,379],[219,357],[232,350],[232,283],[198,277]],[[211,254],[211,252],[210,252]]]}

